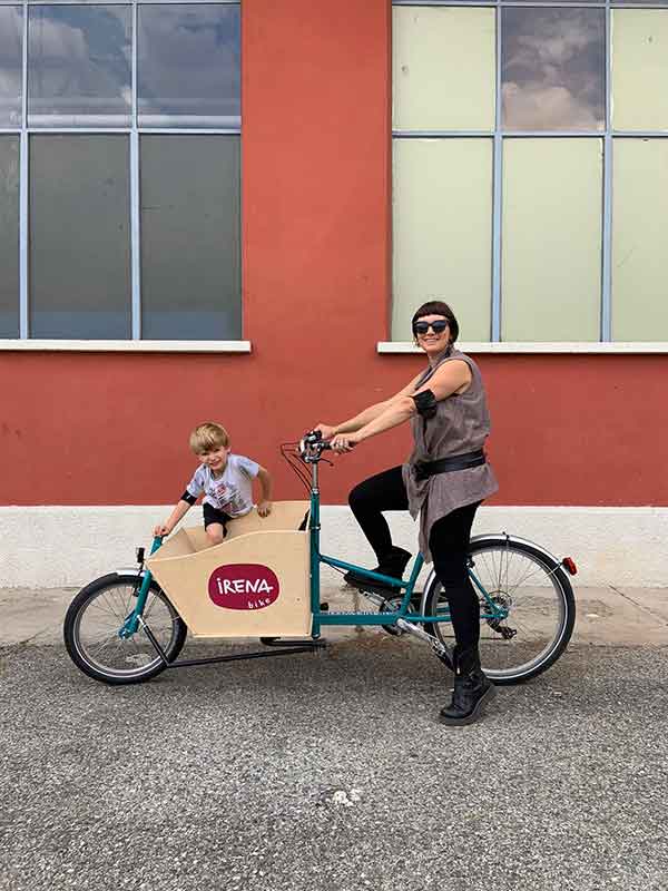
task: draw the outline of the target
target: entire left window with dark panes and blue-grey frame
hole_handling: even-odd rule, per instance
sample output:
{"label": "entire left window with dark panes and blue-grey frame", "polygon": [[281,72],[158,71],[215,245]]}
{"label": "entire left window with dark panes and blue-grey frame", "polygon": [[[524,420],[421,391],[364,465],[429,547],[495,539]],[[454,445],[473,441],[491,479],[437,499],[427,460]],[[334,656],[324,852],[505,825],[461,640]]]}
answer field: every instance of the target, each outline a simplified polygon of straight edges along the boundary
{"label": "entire left window with dark panes and blue-grey frame", "polygon": [[238,0],[0,4],[0,337],[242,336],[239,56]]}

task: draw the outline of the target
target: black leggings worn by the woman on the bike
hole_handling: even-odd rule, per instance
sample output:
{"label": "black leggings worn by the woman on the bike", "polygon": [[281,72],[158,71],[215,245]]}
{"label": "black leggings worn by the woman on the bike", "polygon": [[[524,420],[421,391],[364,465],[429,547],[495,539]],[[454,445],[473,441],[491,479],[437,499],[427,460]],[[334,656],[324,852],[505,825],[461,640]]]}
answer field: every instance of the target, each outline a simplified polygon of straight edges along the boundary
{"label": "black leggings worn by the woman on the bike", "polygon": [[[382,562],[392,548],[390,527],[382,511],[409,509],[401,467],[376,473],[355,486],[348,503],[379,562]],[[460,652],[477,647],[480,639],[480,607],[466,571],[471,526],[479,506],[480,501],[446,513],[434,522],[429,536],[434,570],[448,598]]]}

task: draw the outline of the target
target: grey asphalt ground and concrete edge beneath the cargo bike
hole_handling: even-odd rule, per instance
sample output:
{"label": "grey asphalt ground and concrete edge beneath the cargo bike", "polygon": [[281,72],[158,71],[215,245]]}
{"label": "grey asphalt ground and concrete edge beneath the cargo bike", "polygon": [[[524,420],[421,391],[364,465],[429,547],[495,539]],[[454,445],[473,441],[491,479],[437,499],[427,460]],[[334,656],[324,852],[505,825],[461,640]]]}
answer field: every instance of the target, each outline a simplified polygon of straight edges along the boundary
{"label": "grey asphalt ground and concrete edge beneath the cargo bike", "polygon": [[464,728],[419,642],[110,688],[28,628],[49,597],[0,593],[3,891],[668,889],[666,591],[579,593],[561,659]]}

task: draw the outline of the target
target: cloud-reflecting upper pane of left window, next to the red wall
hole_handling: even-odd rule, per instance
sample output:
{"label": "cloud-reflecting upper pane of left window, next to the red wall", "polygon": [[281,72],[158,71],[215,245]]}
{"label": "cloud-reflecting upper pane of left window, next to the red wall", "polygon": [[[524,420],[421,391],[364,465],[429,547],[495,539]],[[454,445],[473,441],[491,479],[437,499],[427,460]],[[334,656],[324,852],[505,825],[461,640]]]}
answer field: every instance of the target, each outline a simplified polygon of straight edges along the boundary
{"label": "cloud-reflecting upper pane of left window, next to the red wall", "polygon": [[139,124],[240,126],[237,6],[140,6]]}

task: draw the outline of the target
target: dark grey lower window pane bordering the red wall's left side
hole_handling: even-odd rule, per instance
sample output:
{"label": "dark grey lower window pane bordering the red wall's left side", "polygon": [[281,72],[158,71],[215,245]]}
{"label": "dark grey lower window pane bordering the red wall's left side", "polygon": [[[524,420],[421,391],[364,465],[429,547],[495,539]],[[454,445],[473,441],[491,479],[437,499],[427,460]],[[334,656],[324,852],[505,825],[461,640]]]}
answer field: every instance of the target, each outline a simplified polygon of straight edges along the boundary
{"label": "dark grey lower window pane bordering the red wall's left side", "polygon": [[238,136],[144,136],[143,336],[242,335]]}

